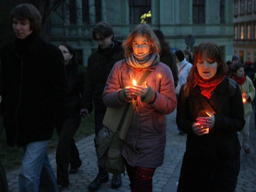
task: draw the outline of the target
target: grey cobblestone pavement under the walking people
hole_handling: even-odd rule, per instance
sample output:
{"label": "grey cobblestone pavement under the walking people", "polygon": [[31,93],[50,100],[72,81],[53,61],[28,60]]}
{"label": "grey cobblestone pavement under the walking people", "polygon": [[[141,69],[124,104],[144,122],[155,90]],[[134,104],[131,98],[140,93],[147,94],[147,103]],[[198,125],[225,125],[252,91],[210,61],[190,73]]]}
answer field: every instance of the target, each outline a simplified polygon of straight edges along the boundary
{"label": "grey cobblestone pavement under the walking people", "polygon": [[[177,188],[179,179],[180,165],[183,154],[185,152],[186,135],[180,136],[175,123],[176,111],[167,116],[167,135],[166,148],[164,156],[164,164],[156,169],[153,177],[154,192],[174,192]],[[251,117],[251,154],[245,154],[241,151],[241,170],[238,176],[236,192],[256,192],[256,129],[254,126],[254,116]],[[97,158],[95,154],[94,135],[91,135],[77,142],[80,152],[80,158],[83,165],[76,174],[69,176],[70,186],[65,192],[87,192],[89,183],[96,177],[98,173]],[[49,155],[52,168],[56,173],[55,154]],[[18,174],[20,170],[16,170],[7,174],[10,192],[18,192]],[[118,189],[111,188],[112,174],[109,175],[110,180],[102,184],[98,192],[129,192],[129,179],[125,172],[122,175],[123,184]]]}

